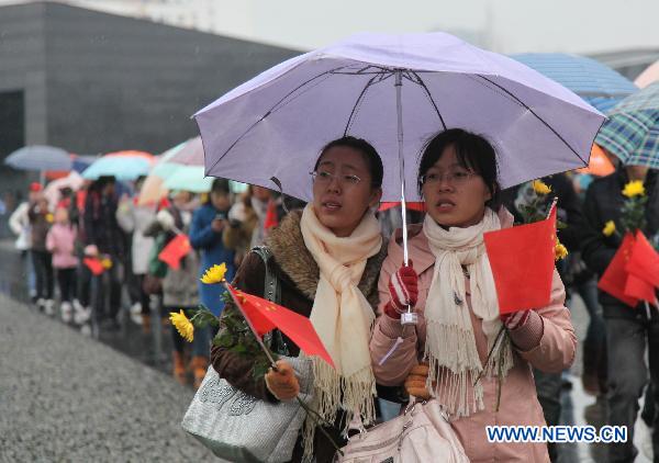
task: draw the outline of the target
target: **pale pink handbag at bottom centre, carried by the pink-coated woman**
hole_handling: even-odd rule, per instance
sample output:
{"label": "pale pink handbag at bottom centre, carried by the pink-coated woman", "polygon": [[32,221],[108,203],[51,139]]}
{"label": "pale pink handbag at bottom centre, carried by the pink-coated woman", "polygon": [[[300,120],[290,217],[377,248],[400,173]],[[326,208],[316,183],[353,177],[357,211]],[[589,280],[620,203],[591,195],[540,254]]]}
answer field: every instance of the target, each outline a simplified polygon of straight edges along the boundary
{"label": "pale pink handbag at bottom centre, carried by the pink-coated woman", "polygon": [[467,463],[469,459],[437,400],[412,402],[392,420],[351,437],[336,463]]}

